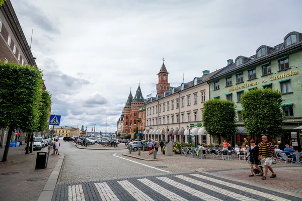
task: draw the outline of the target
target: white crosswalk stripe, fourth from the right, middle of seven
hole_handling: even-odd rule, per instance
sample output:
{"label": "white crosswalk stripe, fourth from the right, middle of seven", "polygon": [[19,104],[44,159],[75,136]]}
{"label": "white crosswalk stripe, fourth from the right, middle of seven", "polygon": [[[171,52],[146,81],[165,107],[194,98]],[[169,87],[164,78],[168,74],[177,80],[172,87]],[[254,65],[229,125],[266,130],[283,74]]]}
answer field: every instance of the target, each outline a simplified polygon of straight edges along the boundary
{"label": "white crosswalk stripe, fourth from the right, middle of seven", "polygon": [[166,198],[174,201],[174,200],[179,200],[179,201],[186,201],[187,199],[179,196],[178,194],[175,194],[174,192],[171,192],[170,190],[163,188],[162,186],[150,181],[149,179],[137,179],[146,186],[156,189],[156,191],[162,195],[164,195]]}

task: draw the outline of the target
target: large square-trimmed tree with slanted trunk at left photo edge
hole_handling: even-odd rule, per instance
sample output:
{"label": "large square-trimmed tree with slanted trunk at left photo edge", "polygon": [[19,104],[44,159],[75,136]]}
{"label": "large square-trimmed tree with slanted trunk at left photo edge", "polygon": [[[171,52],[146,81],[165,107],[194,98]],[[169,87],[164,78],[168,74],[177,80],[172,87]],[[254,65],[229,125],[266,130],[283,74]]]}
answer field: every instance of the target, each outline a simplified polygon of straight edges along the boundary
{"label": "large square-trimmed tree with slanted trunk at left photo edge", "polygon": [[9,128],[2,161],[7,160],[12,133],[33,134],[39,118],[42,72],[35,66],[0,62],[0,127]]}

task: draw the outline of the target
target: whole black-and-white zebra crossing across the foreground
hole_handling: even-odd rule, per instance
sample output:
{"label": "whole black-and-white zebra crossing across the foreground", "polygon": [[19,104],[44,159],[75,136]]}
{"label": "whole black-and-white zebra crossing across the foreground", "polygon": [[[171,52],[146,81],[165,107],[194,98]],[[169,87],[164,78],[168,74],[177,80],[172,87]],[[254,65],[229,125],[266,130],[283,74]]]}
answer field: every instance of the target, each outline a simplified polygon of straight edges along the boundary
{"label": "whole black-and-white zebra crossing across the foreground", "polygon": [[[169,178],[168,178],[169,177]],[[258,188],[246,183],[213,178],[204,174],[184,174],[130,178],[106,182],[66,185],[64,200],[299,200],[297,197]],[[83,190],[84,188],[84,190]],[[90,188],[90,190],[88,190]],[[64,192],[64,190],[61,190]],[[85,193],[84,193],[85,192]],[[88,195],[87,193],[93,193]],[[89,193],[89,194],[90,194]],[[53,197],[53,200],[61,200]]]}

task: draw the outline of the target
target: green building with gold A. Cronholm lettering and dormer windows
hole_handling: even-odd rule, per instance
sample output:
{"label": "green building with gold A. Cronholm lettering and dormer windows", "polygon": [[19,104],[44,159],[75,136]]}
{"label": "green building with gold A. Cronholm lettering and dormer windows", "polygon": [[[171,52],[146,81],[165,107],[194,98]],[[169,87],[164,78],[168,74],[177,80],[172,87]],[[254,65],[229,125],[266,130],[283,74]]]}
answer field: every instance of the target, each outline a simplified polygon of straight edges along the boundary
{"label": "green building with gold A. Cronholm lettering and dormer windows", "polygon": [[[237,104],[238,129],[235,143],[248,137],[241,116],[241,95],[255,87],[269,87],[283,93],[283,144],[300,150],[302,141],[302,34],[288,33],[283,43],[260,46],[250,57],[238,56],[208,81],[210,98],[228,99]],[[234,142],[234,141],[233,141]]]}

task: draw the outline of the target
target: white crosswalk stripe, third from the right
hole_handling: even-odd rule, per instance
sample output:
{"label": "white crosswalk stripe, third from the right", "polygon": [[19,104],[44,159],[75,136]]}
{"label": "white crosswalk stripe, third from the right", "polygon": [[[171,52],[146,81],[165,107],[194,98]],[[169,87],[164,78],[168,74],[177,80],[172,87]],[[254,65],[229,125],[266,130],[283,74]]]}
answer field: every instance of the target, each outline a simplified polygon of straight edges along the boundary
{"label": "white crosswalk stripe, third from the right", "polygon": [[162,180],[162,181],[164,181],[164,182],[166,182],[166,183],[169,183],[169,184],[173,185],[176,188],[184,190],[187,193],[190,193],[190,194],[192,194],[194,196],[197,196],[198,198],[201,198],[203,200],[222,200],[222,199],[218,199],[217,197],[208,195],[208,194],[206,194],[204,192],[201,192],[201,191],[198,191],[196,189],[193,189],[193,188],[191,188],[189,186],[186,186],[184,184],[181,184],[181,183],[179,183],[177,181],[174,181],[172,179],[169,179],[167,177],[157,177],[157,178],[160,179],[160,180]]}

